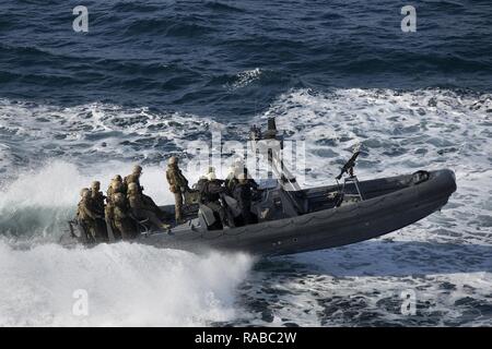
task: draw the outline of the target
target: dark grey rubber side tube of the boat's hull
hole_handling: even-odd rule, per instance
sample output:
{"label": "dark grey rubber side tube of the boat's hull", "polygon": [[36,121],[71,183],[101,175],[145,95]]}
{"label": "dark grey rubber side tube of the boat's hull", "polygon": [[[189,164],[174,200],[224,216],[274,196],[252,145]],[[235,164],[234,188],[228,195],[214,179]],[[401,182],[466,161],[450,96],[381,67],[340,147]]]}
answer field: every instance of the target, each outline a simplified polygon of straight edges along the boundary
{"label": "dark grey rubber side tube of the boat's hull", "polygon": [[[360,185],[364,192],[373,184],[367,181]],[[341,207],[224,230],[200,231],[188,224],[173,229],[173,234],[144,234],[137,241],[166,249],[195,252],[214,249],[256,255],[324,250],[411,225],[443,207],[455,191],[453,171],[438,170],[429,172],[429,179],[422,183]]]}

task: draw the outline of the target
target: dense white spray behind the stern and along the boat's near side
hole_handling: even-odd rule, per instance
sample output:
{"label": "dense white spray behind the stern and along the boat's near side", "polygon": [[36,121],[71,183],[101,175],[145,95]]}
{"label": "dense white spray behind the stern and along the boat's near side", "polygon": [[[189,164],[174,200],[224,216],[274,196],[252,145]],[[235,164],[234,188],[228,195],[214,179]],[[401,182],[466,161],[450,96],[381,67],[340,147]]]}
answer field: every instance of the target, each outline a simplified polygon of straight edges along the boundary
{"label": "dense white spray behind the stern and along the boat's near side", "polygon": [[[90,250],[46,244],[73,217],[79,188],[99,178],[105,188],[114,173],[130,169],[131,164],[106,164],[84,174],[73,164],[54,161],[4,188],[0,226],[21,241],[0,240],[0,326],[195,326],[234,317],[234,290],[253,262],[246,255],[197,256],[129,243]],[[171,203],[161,168],[145,168],[142,184],[156,201]],[[71,313],[77,289],[89,292],[87,317]]]}

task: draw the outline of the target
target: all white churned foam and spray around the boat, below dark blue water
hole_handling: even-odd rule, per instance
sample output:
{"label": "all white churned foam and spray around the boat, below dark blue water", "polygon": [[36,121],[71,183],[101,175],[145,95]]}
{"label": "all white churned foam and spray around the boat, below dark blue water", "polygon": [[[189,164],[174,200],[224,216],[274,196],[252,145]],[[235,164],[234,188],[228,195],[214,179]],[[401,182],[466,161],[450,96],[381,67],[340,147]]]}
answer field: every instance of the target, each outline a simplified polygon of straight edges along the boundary
{"label": "all white churned foam and spray around the boat, below dark blue water", "polygon": [[[106,189],[114,174],[130,171],[137,163],[133,158],[141,159],[142,154],[144,158],[151,158],[160,153],[154,146],[144,147],[144,151],[122,147],[122,141],[132,143],[151,139],[157,142],[160,137],[166,137],[177,149],[183,149],[190,134],[191,139],[210,141],[207,139],[210,128],[229,132],[225,125],[211,118],[155,115],[147,109],[129,110],[105,105],[60,109],[2,101],[0,129],[12,135],[13,141],[2,141],[0,147],[7,163],[0,167],[8,168],[7,172],[0,173],[3,179],[0,229],[2,234],[9,231],[31,234],[38,243],[23,244],[27,250],[21,251],[13,239],[0,242],[0,324],[195,325],[210,321],[234,322],[238,316],[234,297],[246,303],[248,298],[253,298],[253,302],[259,299],[271,311],[272,323],[253,313],[243,317],[248,324],[281,324],[285,318],[304,325],[358,324],[364,323],[365,315],[412,324],[411,317],[403,318],[382,305],[388,300],[398,302],[401,289],[411,288],[419,290],[421,306],[427,311],[423,317],[444,314],[430,324],[445,325],[446,320],[450,323],[456,320],[455,324],[490,325],[492,318],[483,304],[490,302],[488,296],[492,288],[491,100],[487,94],[461,95],[440,89],[405,93],[294,89],[280,96],[255,122],[276,116],[278,128],[289,132],[288,139],[306,141],[309,169],[304,185],[332,183],[353,145],[362,143],[363,154],[356,167],[361,180],[418,169],[450,168],[456,173],[458,190],[442,212],[382,239],[274,258],[273,263],[282,266],[281,272],[255,272],[250,276],[247,270],[251,261],[242,255],[203,257],[127,243],[92,250],[65,250],[43,244],[55,241],[62,232],[65,220],[73,214],[80,188],[97,179]],[[86,110],[91,113],[84,119],[82,116]],[[43,117],[47,121],[39,119]],[[237,127],[247,129],[249,124]],[[101,139],[87,141],[86,136],[93,132],[101,132]],[[22,143],[25,146],[37,146],[33,147],[32,154],[46,156],[40,159],[40,166],[26,166],[17,159],[16,142],[21,140],[25,141]],[[101,146],[102,142],[106,143],[105,147]],[[39,148],[44,151],[39,152]],[[61,155],[50,155],[51,151],[59,151]],[[94,161],[81,161],[84,152]],[[107,161],[108,157],[114,160]],[[157,203],[168,204],[173,198],[165,181],[164,166],[157,163],[144,166],[142,184]],[[190,183],[200,174],[186,172]],[[292,265],[293,269],[301,265],[303,270],[294,277],[285,276],[285,265]],[[160,278],[153,278],[155,270]],[[223,285],[221,280],[216,285],[211,281],[219,275],[221,280],[224,277]],[[177,288],[166,293],[167,284],[175,279]],[[254,291],[242,290],[241,286],[236,290],[243,281],[253,286]],[[139,284],[145,285],[144,292],[150,293],[132,298],[138,293]],[[87,320],[75,318],[69,313],[72,289],[79,287],[91,289],[96,305]],[[265,288],[269,292],[263,292]],[[277,291],[281,296],[271,296]],[[110,298],[107,292],[121,297]],[[214,294],[212,298],[207,296],[210,292]],[[165,294],[162,299],[156,296],[161,293]],[[455,304],[464,298],[482,305],[473,305],[473,302],[469,303],[471,305],[466,302]],[[324,300],[330,299],[339,304],[341,313],[331,314],[332,310],[326,310]],[[128,304],[126,300],[129,300]],[[361,309],[358,309],[359,301],[365,304]],[[149,311],[153,310],[154,303],[159,312]],[[210,305],[212,303],[219,305]],[[343,317],[347,306],[358,309],[356,316],[361,317]],[[473,306],[483,308],[479,311]],[[190,308],[196,311],[179,312]],[[464,315],[470,311],[478,313],[475,317]],[[325,312],[331,315],[325,316]]]}

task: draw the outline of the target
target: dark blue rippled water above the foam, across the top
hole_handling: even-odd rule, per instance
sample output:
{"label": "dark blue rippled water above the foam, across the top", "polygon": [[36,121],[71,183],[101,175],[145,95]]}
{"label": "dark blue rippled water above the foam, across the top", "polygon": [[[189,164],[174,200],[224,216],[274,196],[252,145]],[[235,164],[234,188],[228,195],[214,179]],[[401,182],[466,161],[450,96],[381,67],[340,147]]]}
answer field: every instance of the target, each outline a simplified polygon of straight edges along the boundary
{"label": "dark blue rippled water above the foam, across the top", "polygon": [[[78,4],[86,34],[72,29]],[[405,4],[417,33],[400,29]],[[0,97],[231,118],[293,87],[490,92],[491,37],[490,1],[3,0]]]}

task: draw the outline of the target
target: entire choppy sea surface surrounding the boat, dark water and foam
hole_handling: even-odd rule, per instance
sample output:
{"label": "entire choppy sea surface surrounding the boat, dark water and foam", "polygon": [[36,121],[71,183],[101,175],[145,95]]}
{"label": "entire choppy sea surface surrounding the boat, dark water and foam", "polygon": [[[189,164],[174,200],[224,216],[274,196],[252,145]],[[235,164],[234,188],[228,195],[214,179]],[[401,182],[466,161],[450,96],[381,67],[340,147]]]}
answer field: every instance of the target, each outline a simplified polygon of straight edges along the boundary
{"label": "entire choppy sea surface surrounding the boat, dark water and foam", "polygon": [[[394,1],[87,0],[85,34],[78,4],[0,4],[0,326],[492,325],[489,1],[419,1],[407,34]],[[169,155],[267,117],[305,142],[303,186],[360,143],[361,180],[449,168],[457,192],[390,234],[283,257],[58,243],[93,179],[141,163],[172,203]]]}

